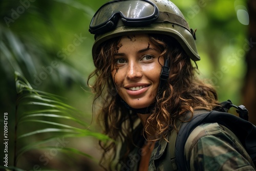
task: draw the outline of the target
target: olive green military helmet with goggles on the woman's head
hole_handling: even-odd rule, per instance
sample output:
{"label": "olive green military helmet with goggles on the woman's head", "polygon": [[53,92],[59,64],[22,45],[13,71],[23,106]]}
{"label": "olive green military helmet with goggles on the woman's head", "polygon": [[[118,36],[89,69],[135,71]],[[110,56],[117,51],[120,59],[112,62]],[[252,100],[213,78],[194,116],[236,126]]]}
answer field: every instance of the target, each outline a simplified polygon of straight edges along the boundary
{"label": "olive green military helmet with goggles on the woman's head", "polygon": [[189,29],[179,8],[168,0],[111,1],[95,13],[89,31],[95,34],[92,48],[94,61],[102,42],[117,36],[140,33],[172,36],[192,60],[200,60],[195,32]]}

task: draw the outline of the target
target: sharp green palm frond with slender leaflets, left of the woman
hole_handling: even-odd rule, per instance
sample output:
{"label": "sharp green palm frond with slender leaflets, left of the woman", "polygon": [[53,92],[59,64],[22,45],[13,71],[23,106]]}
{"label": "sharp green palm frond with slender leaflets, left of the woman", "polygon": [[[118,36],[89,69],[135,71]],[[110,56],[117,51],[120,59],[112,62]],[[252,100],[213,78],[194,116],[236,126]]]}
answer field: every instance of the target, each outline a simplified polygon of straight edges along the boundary
{"label": "sharp green palm frond with slender leaflets, left of the woman", "polygon": [[[17,161],[24,153],[33,149],[51,149],[53,147],[47,144],[61,138],[91,136],[105,142],[111,140],[108,136],[89,130],[89,126],[79,118],[79,116],[82,116],[82,113],[61,101],[61,97],[33,89],[26,78],[18,72],[15,72],[15,82],[17,101],[15,114],[14,166],[16,166]],[[18,108],[21,106],[25,106],[27,109],[32,107],[33,110],[26,110],[26,112],[19,113]],[[36,110],[34,110],[34,108],[36,108]],[[26,130],[25,133],[18,132],[23,124],[30,125],[30,123],[37,125],[35,130]],[[47,135],[48,137],[46,136],[47,138],[41,138],[38,141],[30,142],[19,149],[17,148],[17,142],[21,139],[34,136],[44,137],[42,135]],[[83,153],[74,147],[62,146],[57,150],[63,153],[82,155],[95,161],[92,156]]]}

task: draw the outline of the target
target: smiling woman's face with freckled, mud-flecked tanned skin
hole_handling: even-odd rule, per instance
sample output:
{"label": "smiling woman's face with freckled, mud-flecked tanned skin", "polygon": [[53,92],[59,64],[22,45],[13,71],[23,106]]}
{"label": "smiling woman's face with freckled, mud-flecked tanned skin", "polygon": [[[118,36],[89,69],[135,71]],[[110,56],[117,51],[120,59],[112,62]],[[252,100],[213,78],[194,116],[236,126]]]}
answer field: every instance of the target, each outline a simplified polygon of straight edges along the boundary
{"label": "smiling woman's face with freckled, mud-flecked tanned skin", "polygon": [[146,108],[157,96],[161,52],[147,34],[123,36],[117,49],[112,78],[118,94],[132,108]]}

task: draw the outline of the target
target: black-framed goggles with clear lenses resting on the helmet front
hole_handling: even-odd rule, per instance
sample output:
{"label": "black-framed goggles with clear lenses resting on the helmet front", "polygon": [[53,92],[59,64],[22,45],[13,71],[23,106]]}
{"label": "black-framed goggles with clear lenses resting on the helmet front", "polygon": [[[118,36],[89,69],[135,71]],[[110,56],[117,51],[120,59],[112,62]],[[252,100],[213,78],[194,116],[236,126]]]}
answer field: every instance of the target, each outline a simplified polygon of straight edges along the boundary
{"label": "black-framed goggles with clear lenses resting on the helmet front", "polygon": [[147,0],[117,0],[104,4],[94,14],[89,31],[102,34],[113,30],[119,17],[126,26],[144,26],[159,16],[157,6]]}

